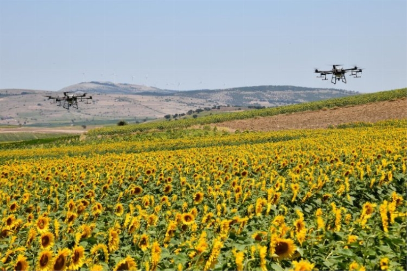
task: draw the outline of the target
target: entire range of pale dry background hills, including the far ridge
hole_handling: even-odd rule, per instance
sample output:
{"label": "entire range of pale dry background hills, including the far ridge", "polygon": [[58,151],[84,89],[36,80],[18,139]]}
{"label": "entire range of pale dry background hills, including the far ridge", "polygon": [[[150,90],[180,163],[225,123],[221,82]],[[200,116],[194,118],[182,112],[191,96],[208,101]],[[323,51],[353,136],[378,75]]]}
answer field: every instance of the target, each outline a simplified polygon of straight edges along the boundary
{"label": "entire range of pale dry background hills, including the far ridge", "polygon": [[[63,92],[85,92],[92,104],[66,110],[44,97]],[[28,126],[103,125],[120,119],[144,122],[167,114],[181,114],[214,106],[280,106],[298,104],[357,93],[340,89],[296,86],[251,86],[228,89],[173,91],[150,86],[112,82],[85,82],[57,92],[32,89],[0,89],[0,124]]]}

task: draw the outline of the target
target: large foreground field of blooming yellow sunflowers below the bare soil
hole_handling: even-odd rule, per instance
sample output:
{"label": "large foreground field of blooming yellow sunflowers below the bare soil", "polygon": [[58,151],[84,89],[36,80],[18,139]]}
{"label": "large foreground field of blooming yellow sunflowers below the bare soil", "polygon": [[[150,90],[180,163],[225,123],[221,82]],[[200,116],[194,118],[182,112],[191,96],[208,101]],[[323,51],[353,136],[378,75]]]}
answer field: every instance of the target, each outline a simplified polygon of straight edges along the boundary
{"label": "large foreground field of blooming yellow sunflowers below the bare soil", "polygon": [[4,270],[406,270],[406,120],[0,149]]}

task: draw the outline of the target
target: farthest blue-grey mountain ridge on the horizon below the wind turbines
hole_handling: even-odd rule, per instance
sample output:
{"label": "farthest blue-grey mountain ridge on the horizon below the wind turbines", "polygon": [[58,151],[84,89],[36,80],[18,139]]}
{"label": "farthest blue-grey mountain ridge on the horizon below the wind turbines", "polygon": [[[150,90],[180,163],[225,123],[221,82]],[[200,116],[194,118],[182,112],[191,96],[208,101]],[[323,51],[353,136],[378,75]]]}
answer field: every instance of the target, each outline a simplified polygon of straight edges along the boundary
{"label": "farthest blue-grey mountain ridge on the horizon below the wind turbines", "polygon": [[313,88],[290,85],[260,85],[222,89],[197,89],[191,91],[174,91],[146,85],[122,84],[113,82],[83,82],[62,88],[59,92],[85,92],[93,94],[123,94],[147,96],[173,96],[180,98],[201,99],[237,106],[279,106],[339,98],[355,95],[358,92],[335,88]]}

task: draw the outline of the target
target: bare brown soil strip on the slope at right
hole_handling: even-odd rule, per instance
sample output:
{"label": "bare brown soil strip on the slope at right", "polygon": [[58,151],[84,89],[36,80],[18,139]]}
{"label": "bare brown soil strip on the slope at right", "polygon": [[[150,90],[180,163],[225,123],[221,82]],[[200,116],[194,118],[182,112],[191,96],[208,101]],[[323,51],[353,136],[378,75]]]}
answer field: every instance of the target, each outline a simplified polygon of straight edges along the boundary
{"label": "bare brown soil strip on the slope at right", "polygon": [[407,118],[407,99],[364,105],[306,111],[270,117],[257,117],[217,124],[230,131],[277,131],[324,129],[350,122],[376,123],[386,119]]}

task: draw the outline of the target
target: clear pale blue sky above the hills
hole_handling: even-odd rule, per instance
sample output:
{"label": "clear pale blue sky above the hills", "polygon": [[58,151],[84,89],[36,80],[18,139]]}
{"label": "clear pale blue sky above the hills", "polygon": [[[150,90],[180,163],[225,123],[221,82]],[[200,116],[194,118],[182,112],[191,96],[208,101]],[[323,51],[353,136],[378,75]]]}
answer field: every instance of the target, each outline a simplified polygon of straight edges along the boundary
{"label": "clear pale blue sky above the hills", "polygon": [[[347,84],[316,78],[332,64],[365,70]],[[0,0],[0,88],[58,91],[83,80],[406,87],[407,1]]]}

